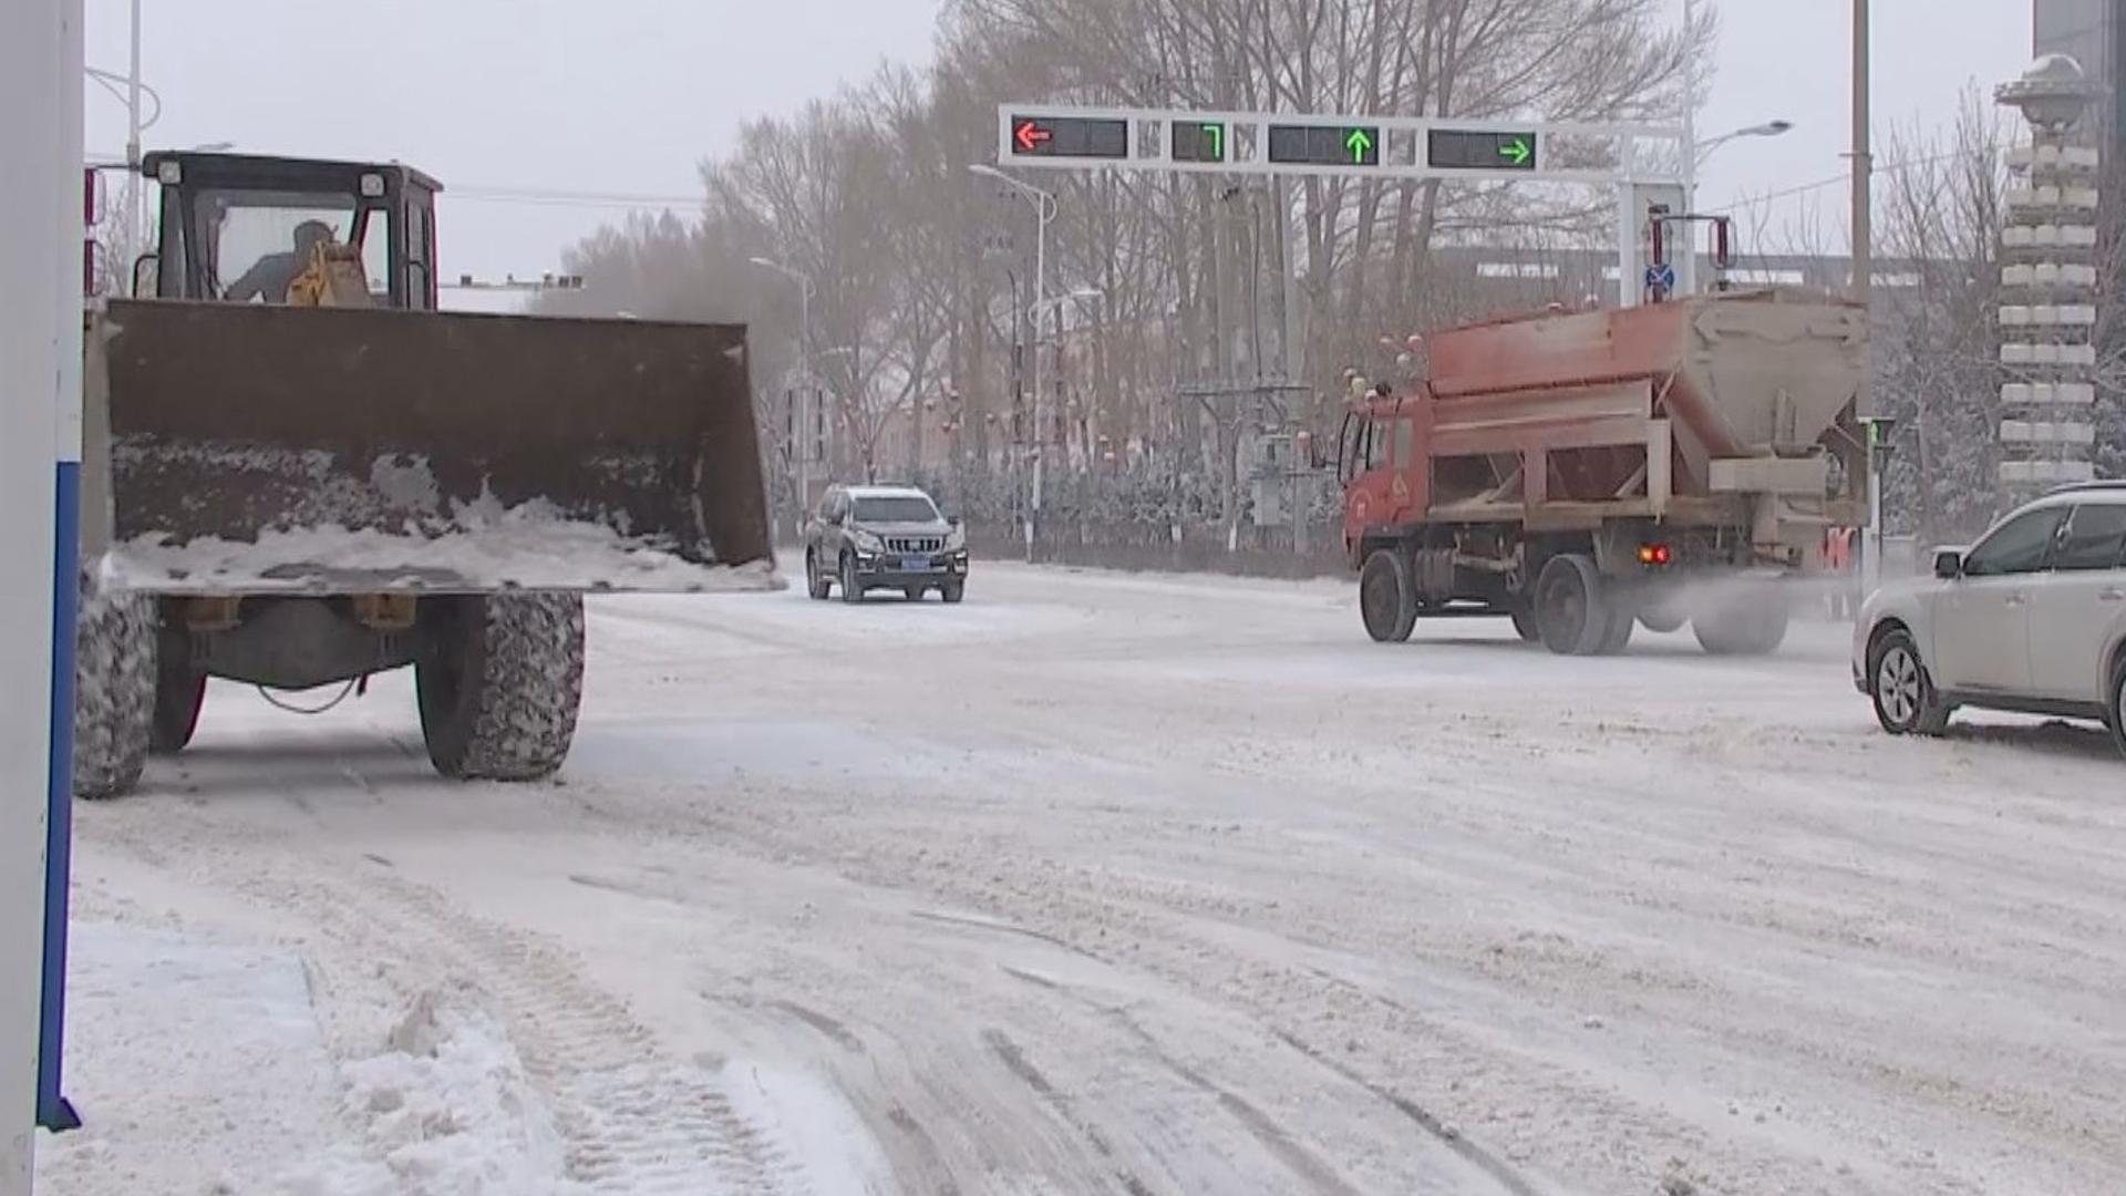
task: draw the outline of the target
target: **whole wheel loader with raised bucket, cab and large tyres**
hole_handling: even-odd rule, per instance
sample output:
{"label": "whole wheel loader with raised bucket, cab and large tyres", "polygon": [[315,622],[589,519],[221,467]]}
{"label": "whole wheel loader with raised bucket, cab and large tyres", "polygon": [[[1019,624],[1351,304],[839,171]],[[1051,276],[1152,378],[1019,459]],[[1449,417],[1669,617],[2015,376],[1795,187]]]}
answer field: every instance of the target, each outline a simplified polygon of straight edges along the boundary
{"label": "whole wheel loader with raised bucket, cab and large tyres", "polygon": [[744,328],[438,311],[442,187],[408,166],[142,172],[155,249],[87,315],[79,796],[181,751],[213,677],[406,666],[438,773],[540,779],[585,592],[780,587]]}

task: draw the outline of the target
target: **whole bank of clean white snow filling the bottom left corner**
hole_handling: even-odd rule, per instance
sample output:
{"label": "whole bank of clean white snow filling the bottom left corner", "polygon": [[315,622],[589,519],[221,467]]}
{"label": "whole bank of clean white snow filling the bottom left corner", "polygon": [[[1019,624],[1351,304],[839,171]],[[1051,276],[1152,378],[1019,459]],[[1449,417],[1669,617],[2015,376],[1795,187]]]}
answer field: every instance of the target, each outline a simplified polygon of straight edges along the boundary
{"label": "whole bank of clean white snow filling the bottom left corner", "polygon": [[553,1115],[485,1013],[419,996],[336,1064],[293,951],[77,921],[55,1196],[572,1196]]}

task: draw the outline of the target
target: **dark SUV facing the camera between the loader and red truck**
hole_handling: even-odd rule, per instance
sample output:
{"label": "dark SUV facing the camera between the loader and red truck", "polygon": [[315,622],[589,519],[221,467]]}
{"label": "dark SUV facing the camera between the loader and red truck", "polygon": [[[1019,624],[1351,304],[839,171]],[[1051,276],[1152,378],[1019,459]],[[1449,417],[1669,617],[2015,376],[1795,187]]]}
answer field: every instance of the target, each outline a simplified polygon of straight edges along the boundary
{"label": "dark SUV facing the camera between the loader and red truck", "polygon": [[899,589],[910,602],[935,589],[967,592],[967,530],[912,485],[829,485],[804,528],[804,579],[812,598],[840,585],[842,602]]}

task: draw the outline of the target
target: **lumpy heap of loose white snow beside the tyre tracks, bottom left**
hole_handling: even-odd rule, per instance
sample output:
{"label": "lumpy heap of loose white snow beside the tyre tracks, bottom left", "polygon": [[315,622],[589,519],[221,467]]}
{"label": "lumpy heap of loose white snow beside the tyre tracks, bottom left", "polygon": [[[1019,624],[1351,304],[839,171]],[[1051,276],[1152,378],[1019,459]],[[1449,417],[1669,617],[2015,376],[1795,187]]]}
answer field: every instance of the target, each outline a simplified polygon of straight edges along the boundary
{"label": "lumpy heap of loose white snow beside the tyre tracks, bottom left", "polygon": [[551,1111],[491,1017],[423,992],[381,1056],[340,1068],[364,1136],[283,1177],[289,1196],[572,1196]]}

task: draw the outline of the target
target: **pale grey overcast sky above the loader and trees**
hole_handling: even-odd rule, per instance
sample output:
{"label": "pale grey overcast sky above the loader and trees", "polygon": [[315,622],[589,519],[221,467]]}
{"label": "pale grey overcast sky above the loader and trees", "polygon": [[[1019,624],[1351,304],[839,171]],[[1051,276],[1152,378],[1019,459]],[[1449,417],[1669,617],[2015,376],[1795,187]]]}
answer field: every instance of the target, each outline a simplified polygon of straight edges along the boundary
{"label": "pale grey overcast sky above the loader and trees", "polygon": [[[1671,0],[1677,17],[1684,0]],[[1784,117],[1705,166],[1701,206],[1839,175],[1850,0],[1701,0],[1720,11],[1701,136]],[[789,113],[880,60],[925,62],[935,0],[142,0],[142,74],[166,111],[149,149],[398,157],[442,179],[444,277],[538,275],[621,206],[538,192],[697,194],[695,162],[753,115]],[[125,70],[125,0],[87,0],[89,64]],[[1875,0],[1875,113],[1945,119],[2030,57],[2028,0]],[[125,109],[89,89],[89,151]],[[1888,164],[1886,164],[1888,166]],[[510,198],[514,196],[514,198]],[[1843,236],[1843,192],[1822,206]]]}

